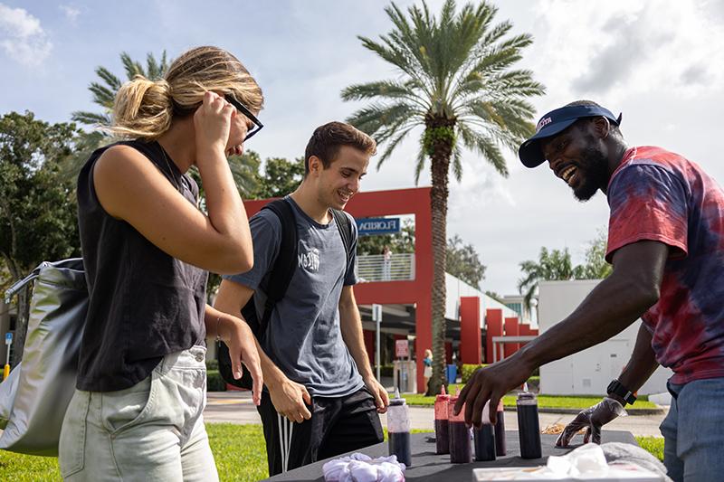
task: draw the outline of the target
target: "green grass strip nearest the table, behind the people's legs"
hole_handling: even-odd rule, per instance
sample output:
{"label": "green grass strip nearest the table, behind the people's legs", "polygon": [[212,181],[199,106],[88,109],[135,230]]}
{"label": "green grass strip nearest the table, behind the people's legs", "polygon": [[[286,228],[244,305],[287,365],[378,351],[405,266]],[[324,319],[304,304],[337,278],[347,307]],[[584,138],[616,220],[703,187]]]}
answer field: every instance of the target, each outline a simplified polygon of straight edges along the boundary
{"label": "green grass strip nearest the table, behind the people's legs", "polygon": [[[222,481],[254,481],[268,477],[261,425],[208,423],[206,430]],[[663,439],[636,437],[636,440],[643,449],[663,459]],[[0,450],[0,480],[36,482],[60,479],[57,458],[18,455]]]}

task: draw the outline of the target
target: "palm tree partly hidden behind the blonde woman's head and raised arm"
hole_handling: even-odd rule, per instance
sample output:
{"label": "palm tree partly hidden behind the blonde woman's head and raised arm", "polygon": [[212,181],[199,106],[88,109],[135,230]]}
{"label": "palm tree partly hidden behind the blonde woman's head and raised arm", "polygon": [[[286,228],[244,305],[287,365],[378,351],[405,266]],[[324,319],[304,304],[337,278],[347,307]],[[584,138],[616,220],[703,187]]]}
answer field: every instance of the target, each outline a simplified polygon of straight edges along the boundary
{"label": "palm tree partly hidden behind the blonde woman's head and raised arm", "polygon": [[[132,80],[137,75],[142,75],[148,80],[160,80],[166,75],[168,67],[173,62],[167,59],[166,51],[161,53],[158,60],[153,53],[149,52],[146,56],[145,68],[140,62],[134,61],[127,52],[120,54],[120,61],[126,71],[128,80]],[[104,131],[102,128],[110,126],[113,101],[116,99],[116,92],[118,92],[123,82],[102,65],[96,68],[96,74],[98,74],[101,81],[91,82],[88,90],[93,95],[93,102],[103,108],[103,111],[79,110],[72,113],[72,119],[86,126],[101,128],[101,130],[83,132],[79,137],[79,141],[76,143],[75,155],[71,156],[69,162],[62,165],[62,174],[70,178],[75,178],[78,175],[90,153],[98,147],[116,140],[110,136],[108,131]],[[259,178],[259,156],[256,153],[252,152],[248,156],[229,157],[229,167],[240,194],[247,196],[256,190]],[[195,168],[192,169],[190,174],[195,177],[196,182],[199,182],[200,176]]]}

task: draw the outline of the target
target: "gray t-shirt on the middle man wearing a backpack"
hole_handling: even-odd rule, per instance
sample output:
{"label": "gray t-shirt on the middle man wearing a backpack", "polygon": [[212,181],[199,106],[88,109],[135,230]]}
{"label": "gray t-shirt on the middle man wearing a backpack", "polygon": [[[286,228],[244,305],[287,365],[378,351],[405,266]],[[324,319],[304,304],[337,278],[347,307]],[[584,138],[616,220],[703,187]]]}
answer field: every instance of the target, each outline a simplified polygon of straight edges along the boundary
{"label": "gray t-shirt on the middle man wearing a backpack", "polygon": [[[291,380],[303,384],[313,396],[342,397],[357,392],[364,383],[357,371],[339,326],[339,296],[343,286],[357,283],[355,255],[347,261],[344,243],[334,219],[319,224],[291,197],[297,221],[298,264],[289,288],[274,307],[264,352]],[[353,227],[353,250],[357,250],[357,224]],[[281,221],[262,209],[252,216],[254,266],[251,271],[224,276],[255,291],[257,316],[261,319],[269,273],[281,243]]]}

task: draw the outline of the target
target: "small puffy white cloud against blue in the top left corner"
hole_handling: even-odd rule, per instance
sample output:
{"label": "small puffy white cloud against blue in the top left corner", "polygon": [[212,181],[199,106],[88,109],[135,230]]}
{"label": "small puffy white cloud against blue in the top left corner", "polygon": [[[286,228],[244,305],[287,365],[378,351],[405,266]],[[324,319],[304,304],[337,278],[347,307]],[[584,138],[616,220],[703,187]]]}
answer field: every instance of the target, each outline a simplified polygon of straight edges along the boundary
{"label": "small puffy white cloud against blue in the top left corner", "polygon": [[14,61],[35,66],[50,55],[52,43],[40,20],[23,8],[0,4],[0,48]]}

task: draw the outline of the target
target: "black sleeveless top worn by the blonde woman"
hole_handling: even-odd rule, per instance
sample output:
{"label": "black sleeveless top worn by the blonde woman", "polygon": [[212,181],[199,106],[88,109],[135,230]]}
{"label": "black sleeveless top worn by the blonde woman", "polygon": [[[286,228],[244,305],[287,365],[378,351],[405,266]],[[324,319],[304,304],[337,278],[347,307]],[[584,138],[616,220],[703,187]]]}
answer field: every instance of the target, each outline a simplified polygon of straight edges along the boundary
{"label": "black sleeveless top worn by the blonde woman", "polygon": [[[118,144],[148,157],[196,205],[198,186],[178,171],[157,142]],[[78,222],[90,303],[76,386],[90,392],[129,388],[148,377],[164,355],[205,344],[208,273],[169,256],[128,222],[106,213],[96,196],[93,167],[108,147],[96,150],[78,176]]]}

